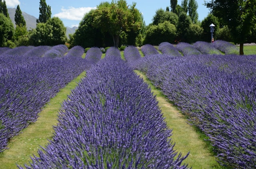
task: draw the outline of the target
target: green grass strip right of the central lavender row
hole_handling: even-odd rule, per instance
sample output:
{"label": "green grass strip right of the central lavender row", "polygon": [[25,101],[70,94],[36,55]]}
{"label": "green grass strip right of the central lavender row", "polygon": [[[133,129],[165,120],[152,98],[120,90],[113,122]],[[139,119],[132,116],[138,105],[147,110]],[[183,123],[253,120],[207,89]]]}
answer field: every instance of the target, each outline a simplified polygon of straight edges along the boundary
{"label": "green grass strip right of the central lavender row", "polygon": [[180,110],[173,106],[143,73],[135,72],[148,83],[152,92],[156,95],[166,123],[172,129],[171,138],[173,143],[175,142],[174,149],[182,153],[183,156],[190,152],[184,163],[194,169],[223,169],[224,167],[220,166],[216,157],[212,155],[209,145],[199,138],[200,134],[187,123],[186,117]]}

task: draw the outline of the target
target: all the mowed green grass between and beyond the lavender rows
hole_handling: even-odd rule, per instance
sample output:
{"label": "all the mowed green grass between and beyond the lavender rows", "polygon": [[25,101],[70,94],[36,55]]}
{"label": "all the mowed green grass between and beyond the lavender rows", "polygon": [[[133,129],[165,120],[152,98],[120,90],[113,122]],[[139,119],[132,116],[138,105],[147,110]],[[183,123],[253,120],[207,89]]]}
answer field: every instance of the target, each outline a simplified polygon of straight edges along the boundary
{"label": "all the mowed green grass between and beyond the lavender rows", "polygon": [[[123,53],[121,54],[123,57]],[[256,55],[256,46],[244,46],[244,54]],[[150,84],[150,81],[146,79],[145,75],[138,71],[136,71],[136,73]],[[0,169],[13,169],[17,168],[17,164],[29,164],[30,156],[37,155],[40,146],[44,147],[47,145],[48,140],[51,139],[54,134],[52,126],[57,125],[56,119],[61,103],[85,75],[85,72],[82,73],[63,88],[57,96],[52,98],[50,102],[44,106],[42,112],[39,114],[40,117],[35,123],[24,129],[20,135],[10,140],[8,143],[10,149],[6,149],[3,153],[0,153]],[[216,162],[216,158],[212,154],[210,146],[200,138],[202,135],[199,134],[193,126],[187,124],[185,116],[168,102],[159,90],[154,88],[152,84],[150,86],[166,118],[166,123],[173,129],[172,140],[176,143],[174,148],[178,152],[182,152],[182,155],[186,155],[186,153],[190,151],[190,155],[184,162],[188,163],[188,165],[194,169],[223,169],[223,167]]]}

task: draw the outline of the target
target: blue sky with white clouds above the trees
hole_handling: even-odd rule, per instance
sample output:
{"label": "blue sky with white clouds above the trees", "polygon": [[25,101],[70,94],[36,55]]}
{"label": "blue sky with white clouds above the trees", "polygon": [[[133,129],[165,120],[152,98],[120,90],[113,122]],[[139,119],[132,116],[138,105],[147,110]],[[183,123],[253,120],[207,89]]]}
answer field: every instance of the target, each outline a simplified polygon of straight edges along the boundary
{"label": "blue sky with white clouds above the trees", "polygon": [[[39,17],[40,0],[5,0],[7,8],[16,8],[20,5],[20,9],[27,14],[36,18]],[[111,2],[111,0],[46,0],[46,4],[51,6],[52,17],[59,17],[64,26],[78,26],[84,14],[92,8],[96,8],[100,2]],[[170,6],[170,0],[126,0],[128,5],[136,2],[136,8],[142,12],[146,25],[152,22],[156,10],[166,9]],[[181,5],[182,0],[178,0]],[[197,0],[199,20],[202,21],[210,12],[204,6],[204,0]]]}

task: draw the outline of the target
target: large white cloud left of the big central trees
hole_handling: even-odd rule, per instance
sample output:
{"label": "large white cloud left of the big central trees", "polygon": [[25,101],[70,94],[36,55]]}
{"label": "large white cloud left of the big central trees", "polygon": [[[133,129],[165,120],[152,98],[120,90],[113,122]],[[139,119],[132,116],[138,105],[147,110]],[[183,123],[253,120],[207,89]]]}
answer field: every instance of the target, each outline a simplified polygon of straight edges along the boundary
{"label": "large white cloud left of the big central trees", "polygon": [[54,14],[53,16],[56,16],[61,19],[68,19],[68,20],[82,20],[84,17],[84,14],[89,12],[92,9],[96,9],[96,7],[80,7],[80,8],[74,8],[74,7],[68,7],[68,9],[62,8],[62,12],[58,14]]}

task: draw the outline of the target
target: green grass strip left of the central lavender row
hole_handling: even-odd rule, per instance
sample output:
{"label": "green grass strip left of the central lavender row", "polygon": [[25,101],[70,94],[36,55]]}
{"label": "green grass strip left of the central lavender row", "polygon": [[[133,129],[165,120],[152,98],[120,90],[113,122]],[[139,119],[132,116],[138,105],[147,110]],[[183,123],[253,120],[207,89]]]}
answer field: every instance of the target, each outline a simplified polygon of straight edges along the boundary
{"label": "green grass strip left of the central lavender row", "polygon": [[9,143],[9,149],[0,153],[0,168],[1,169],[14,169],[17,168],[16,164],[28,165],[31,161],[30,156],[37,155],[40,146],[45,147],[48,144],[48,140],[52,139],[54,130],[53,126],[58,123],[57,115],[61,108],[61,103],[67,100],[68,94],[74,89],[77,83],[82,77],[86,75],[86,72],[81,73],[76,79],[68,83],[64,88],[58,92],[58,94],[48,102],[42,111],[39,113],[39,117],[36,122],[30,124],[27,128],[22,130],[22,133],[13,137]]}

